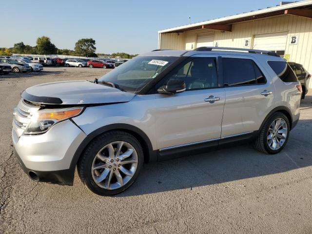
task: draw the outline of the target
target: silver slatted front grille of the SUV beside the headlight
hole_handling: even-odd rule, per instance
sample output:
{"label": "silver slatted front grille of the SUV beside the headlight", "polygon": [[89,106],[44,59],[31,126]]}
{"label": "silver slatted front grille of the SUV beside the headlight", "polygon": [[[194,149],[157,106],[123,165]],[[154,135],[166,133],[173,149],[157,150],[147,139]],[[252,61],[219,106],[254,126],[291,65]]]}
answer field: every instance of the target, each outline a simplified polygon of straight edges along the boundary
{"label": "silver slatted front grille of the SUV beside the headlight", "polygon": [[15,130],[18,137],[20,137],[28,123],[31,120],[32,115],[39,110],[39,106],[30,105],[23,99],[20,100],[18,106],[14,109],[13,117],[13,129]]}

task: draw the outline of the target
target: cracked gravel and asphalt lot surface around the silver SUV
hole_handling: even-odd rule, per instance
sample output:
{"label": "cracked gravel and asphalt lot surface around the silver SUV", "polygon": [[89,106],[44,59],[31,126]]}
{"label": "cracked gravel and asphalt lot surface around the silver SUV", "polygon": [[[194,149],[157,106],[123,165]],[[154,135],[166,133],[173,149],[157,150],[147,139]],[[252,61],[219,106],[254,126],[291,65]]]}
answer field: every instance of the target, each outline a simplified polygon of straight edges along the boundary
{"label": "cracked gravel and asphalt lot surface around the silver SUV", "polygon": [[0,75],[0,233],[312,233],[312,96],[285,149],[251,146],[146,164],[124,193],[101,197],[30,180],[13,155],[12,111],[28,86],[93,80],[109,69]]}

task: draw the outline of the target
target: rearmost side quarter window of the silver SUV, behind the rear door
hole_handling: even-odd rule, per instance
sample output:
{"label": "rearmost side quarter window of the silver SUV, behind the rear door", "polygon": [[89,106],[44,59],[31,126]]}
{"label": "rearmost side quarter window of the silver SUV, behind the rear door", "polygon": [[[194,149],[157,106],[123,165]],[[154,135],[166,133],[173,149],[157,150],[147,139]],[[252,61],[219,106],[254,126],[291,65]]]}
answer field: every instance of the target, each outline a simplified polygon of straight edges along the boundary
{"label": "rearmost side quarter window of the silver SUV, behind the rear door", "polygon": [[275,74],[284,82],[298,82],[292,68],[286,61],[268,61]]}

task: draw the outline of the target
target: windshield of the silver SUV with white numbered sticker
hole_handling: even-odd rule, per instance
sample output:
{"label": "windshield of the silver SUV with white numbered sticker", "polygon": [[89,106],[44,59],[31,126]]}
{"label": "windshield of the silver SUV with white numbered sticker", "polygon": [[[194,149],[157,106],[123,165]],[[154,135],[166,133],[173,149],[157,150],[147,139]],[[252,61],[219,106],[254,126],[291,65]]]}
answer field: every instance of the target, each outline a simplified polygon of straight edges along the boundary
{"label": "windshield of the silver SUV with white numbered sticker", "polygon": [[118,66],[98,79],[114,83],[120,89],[137,93],[144,85],[156,78],[179,57],[138,56]]}

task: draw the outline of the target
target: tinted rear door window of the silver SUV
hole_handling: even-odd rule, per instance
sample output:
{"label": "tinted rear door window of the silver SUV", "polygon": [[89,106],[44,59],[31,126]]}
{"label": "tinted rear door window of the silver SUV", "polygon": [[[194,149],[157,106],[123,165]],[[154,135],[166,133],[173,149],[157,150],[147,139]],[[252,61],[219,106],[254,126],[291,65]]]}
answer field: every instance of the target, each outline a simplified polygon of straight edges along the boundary
{"label": "tinted rear door window of the silver SUV", "polygon": [[223,58],[224,86],[265,84],[266,78],[252,59]]}

